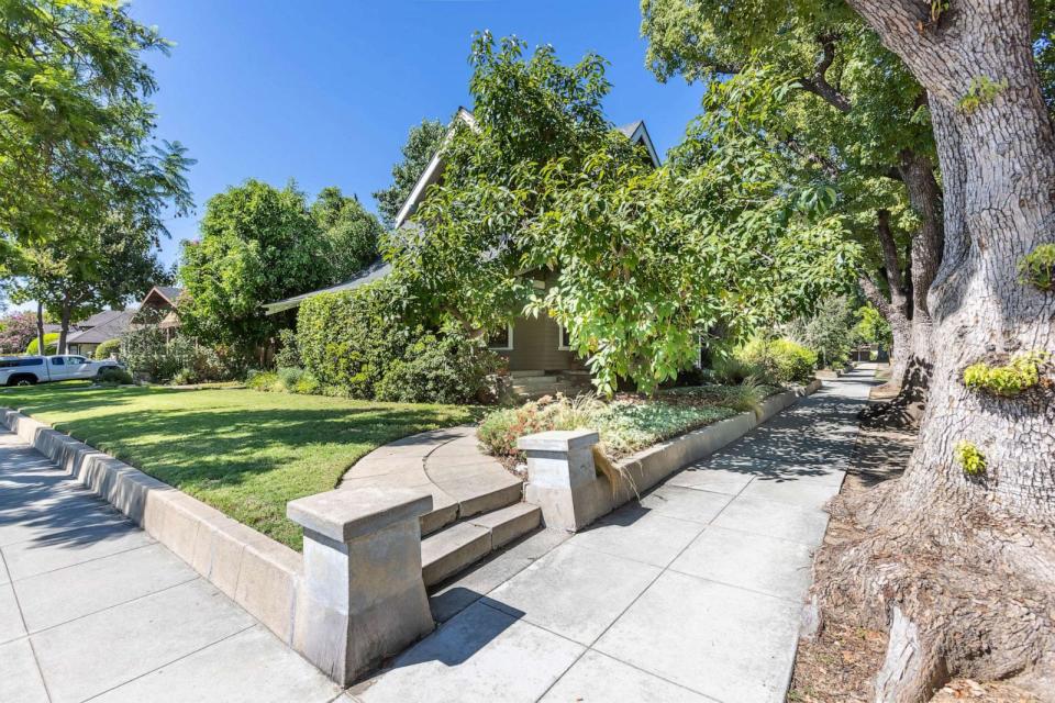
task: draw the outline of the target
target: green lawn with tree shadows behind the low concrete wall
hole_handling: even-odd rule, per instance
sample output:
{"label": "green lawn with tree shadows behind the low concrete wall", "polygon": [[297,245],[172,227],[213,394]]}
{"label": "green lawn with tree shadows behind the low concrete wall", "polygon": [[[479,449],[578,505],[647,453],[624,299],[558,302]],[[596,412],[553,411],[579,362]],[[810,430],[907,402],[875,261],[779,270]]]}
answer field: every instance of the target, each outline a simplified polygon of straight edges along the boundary
{"label": "green lawn with tree shadows behind the low concrete wall", "polygon": [[455,405],[374,403],[240,389],[0,390],[0,405],[108,451],[278,542],[301,548],[286,503],[333,489],[360,457],[399,437],[475,420]]}

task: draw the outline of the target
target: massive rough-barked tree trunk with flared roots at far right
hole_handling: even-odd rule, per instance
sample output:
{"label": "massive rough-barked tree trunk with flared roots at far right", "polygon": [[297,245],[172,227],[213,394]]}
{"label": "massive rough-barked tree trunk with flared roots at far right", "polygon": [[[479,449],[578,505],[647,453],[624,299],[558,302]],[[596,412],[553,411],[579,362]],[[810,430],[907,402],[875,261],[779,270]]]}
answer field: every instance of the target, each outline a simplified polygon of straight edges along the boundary
{"label": "massive rough-barked tree trunk with flared roots at far right", "polygon": [[[921,701],[947,676],[1007,677],[1055,651],[1052,390],[999,399],[962,381],[977,361],[1055,350],[1055,297],[1017,271],[1053,241],[1055,136],[1026,0],[848,2],[929,92],[944,253],[926,299],[935,354],[918,448],[902,479],[848,506],[866,529],[818,591],[891,625],[877,696]],[[985,455],[984,476],[965,473],[959,442]]]}

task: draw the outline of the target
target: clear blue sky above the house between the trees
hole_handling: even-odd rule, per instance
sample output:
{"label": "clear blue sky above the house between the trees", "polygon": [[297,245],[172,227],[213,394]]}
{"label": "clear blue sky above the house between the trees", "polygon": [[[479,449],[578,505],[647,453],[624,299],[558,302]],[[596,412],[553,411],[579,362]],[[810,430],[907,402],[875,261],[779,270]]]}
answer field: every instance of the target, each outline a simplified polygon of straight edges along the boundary
{"label": "clear blue sky above the house between the trees", "polygon": [[635,0],[136,0],[133,14],[176,43],[149,58],[158,135],[179,140],[197,212],[169,222],[163,259],[197,234],[204,203],[255,177],[370,193],[389,183],[408,129],[469,102],[471,35],[553,44],[565,62],[610,63],[608,116],[644,119],[660,154],[699,112],[700,86],[663,85],[644,66]]}

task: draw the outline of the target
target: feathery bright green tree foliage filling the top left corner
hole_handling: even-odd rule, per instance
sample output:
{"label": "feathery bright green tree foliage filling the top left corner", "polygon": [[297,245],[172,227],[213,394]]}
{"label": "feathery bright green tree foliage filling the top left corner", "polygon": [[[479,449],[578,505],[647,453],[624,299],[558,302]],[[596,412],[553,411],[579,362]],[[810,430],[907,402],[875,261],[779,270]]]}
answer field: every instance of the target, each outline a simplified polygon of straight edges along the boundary
{"label": "feathery bright green tree foliage filling the top left corner", "polygon": [[147,102],[143,55],[167,47],[115,2],[0,2],[3,248],[87,235],[131,202],[141,220],[189,210],[185,149],[153,142]]}

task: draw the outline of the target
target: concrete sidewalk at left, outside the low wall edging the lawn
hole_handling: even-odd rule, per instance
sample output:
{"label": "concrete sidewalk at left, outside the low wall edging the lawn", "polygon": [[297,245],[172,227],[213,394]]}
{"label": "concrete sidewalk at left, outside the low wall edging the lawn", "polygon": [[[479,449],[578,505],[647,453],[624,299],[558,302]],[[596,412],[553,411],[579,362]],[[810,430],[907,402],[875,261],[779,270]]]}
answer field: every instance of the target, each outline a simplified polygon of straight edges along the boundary
{"label": "concrete sidewalk at left, outside the low wall edging the lawn", "polygon": [[166,547],[0,431],[0,701],[340,695]]}

